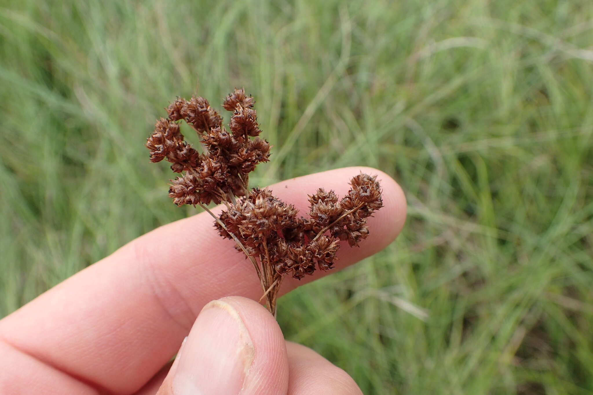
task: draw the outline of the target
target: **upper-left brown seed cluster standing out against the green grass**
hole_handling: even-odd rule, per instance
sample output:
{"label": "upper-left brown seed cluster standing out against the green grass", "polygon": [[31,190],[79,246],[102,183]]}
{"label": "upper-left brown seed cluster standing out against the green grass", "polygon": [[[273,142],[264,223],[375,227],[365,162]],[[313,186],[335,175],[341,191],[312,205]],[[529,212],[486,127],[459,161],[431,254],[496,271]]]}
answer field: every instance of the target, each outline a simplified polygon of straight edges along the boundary
{"label": "upper-left brown seed cluster standing out against the green grass", "polygon": [[[222,106],[232,111],[229,131],[208,100],[178,98],[167,107],[168,118],[160,118],[146,141],[151,162],[166,159],[181,176],[172,180],[169,195],[177,205],[221,203],[247,192],[248,174],[260,162],[267,162],[270,144],[259,139],[253,98],[235,89]],[[202,153],[188,144],[178,121],[184,120],[200,136]],[[256,137],[250,139],[250,137]]]}

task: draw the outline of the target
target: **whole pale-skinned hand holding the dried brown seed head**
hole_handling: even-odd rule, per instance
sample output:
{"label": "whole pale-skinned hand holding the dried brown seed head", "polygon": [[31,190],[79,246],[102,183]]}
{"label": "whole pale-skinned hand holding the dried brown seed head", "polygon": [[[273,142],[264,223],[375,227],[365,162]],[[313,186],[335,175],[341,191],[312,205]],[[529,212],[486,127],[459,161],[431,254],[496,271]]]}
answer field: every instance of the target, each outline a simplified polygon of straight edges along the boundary
{"label": "whole pale-skinned hand holding the dried brown seed head", "polygon": [[[383,190],[369,237],[360,248],[343,245],[331,271],[285,278],[280,294],[385,248],[403,227],[406,200],[390,176],[371,168],[270,186],[304,214],[307,194],[323,187],[343,196],[361,171],[378,175]],[[256,302],[261,295],[253,266],[217,234],[208,214],[161,226],[0,320],[0,393],[361,393],[345,371],[285,341]]]}

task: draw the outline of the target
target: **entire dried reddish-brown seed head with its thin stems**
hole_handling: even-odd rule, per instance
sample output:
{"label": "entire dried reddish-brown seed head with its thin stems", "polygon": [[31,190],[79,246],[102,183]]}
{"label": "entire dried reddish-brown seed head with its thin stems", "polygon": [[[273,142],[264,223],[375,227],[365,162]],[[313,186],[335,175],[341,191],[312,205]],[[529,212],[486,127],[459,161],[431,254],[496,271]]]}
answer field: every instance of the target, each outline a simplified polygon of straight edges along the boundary
{"label": "entire dried reddish-brown seed head with its thin stems", "polygon": [[[270,144],[257,137],[262,131],[253,105],[243,89],[229,94],[222,103],[232,112],[227,131],[208,100],[178,98],[167,107],[168,118],[157,120],[146,147],[151,162],[166,159],[181,174],[171,180],[173,202],[208,211],[220,235],[233,239],[250,259],[262,285],[262,299],[275,314],[285,275],[300,280],[315,268],[329,270],[337,261],[339,240],[358,246],[366,239],[366,219],[382,207],[381,189],[376,177],[366,174],[354,176],[350,191],[341,199],[334,191],[319,188],[309,196],[307,217],[298,216],[294,205],[274,197],[270,190],[250,190],[249,173],[270,156]],[[201,153],[184,140],[181,120],[199,135]],[[224,203],[226,210],[216,216],[206,207],[211,202]]]}

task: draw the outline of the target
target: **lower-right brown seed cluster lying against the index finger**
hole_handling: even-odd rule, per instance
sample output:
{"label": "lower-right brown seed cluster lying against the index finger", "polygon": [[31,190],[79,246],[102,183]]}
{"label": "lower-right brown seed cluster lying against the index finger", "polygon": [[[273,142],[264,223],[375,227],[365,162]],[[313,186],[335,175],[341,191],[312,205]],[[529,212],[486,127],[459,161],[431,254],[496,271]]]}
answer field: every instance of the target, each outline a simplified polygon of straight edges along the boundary
{"label": "lower-right brown seed cluster lying against the index finger", "polygon": [[272,192],[254,188],[237,203],[227,203],[215,226],[221,236],[240,240],[249,255],[276,274],[300,280],[315,267],[333,268],[339,240],[358,246],[368,236],[366,219],[382,207],[380,185],[366,174],[352,178],[350,185],[341,200],[334,191],[319,188],[309,197],[308,218],[298,218],[294,206]]}

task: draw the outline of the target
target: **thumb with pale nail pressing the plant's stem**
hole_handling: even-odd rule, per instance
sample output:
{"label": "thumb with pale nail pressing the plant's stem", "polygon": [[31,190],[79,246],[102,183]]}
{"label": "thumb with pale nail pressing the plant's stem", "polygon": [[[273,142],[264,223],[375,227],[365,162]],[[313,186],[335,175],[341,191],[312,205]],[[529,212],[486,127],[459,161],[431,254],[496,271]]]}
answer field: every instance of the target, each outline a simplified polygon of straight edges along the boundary
{"label": "thumb with pale nail pressing the plant's stem", "polygon": [[158,395],[286,394],[288,356],[280,327],[259,303],[206,304]]}

